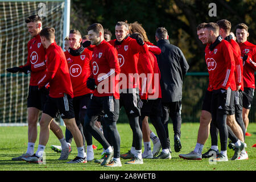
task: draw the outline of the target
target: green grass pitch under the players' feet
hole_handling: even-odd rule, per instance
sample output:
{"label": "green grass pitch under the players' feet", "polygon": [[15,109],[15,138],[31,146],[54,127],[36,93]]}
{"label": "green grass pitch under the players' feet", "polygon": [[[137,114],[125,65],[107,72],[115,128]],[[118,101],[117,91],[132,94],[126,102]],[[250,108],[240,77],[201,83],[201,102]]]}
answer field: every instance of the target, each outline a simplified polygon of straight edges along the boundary
{"label": "green grass pitch under the players' feet", "polygon": [[[129,124],[117,124],[119,134],[121,136],[121,154],[127,152],[131,148],[132,132]],[[154,127],[150,124],[150,128],[155,132]],[[251,133],[251,137],[246,137],[246,151],[249,160],[229,160],[217,164],[209,163],[208,159],[203,160],[184,160],[179,158],[179,154],[187,154],[191,152],[196,144],[197,131],[199,123],[183,123],[181,125],[181,144],[180,152],[174,151],[174,139],[172,131],[172,123],[169,123],[169,132],[171,140],[172,159],[156,160],[144,159],[142,165],[127,165],[127,160],[121,159],[122,167],[106,168],[94,162],[85,164],[67,164],[69,160],[75,158],[77,154],[75,142],[72,142],[71,155],[66,161],[58,161],[60,153],[51,150],[52,144],[59,145],[59,140],[50,132],[49,142],[46,146],[46,164],[31,164],[23,161],[15,162],[11,158],[19,156],[27,150],[27,126],[23,127],[0,127],[0,171],[255,171],[256,169],[256,148],[252,147],[256,143],[256,123],[249,123],[247,132]],[[65,127],[61,126],[63,133]],[[39,136],[40,127],[38,127]],[[38,137],[39,139],[39,137]],[[96,146],[98,142],[93,139]],[[142,144],[143,145],[143,144]],[[35,144],[35,151],[38,146],[38,140]],[[153,144],[151,142],[151,147]],[[203,152],[210,147],[210,138],[205,143]],[[220,143],[219,146],[220,148]],[[142,151],[144,150],[142,146]],[[100,158],[102,150],[94,150],[94,158]],[[232,158],[233,150],[228,148],[228,158]]]}

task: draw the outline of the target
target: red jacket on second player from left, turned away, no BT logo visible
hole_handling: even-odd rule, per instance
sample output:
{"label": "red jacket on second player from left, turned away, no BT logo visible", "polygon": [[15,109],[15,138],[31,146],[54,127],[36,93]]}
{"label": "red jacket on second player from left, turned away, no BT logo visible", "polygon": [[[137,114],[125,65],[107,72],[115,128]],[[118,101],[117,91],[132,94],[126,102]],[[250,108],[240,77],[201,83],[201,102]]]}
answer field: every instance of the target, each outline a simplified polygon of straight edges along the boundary
{"label": "red jacket on second player from left, turned away, no BT logo visible", "polygon": [[64,93],[73,98],[73,88],[69,76],[68,63],[65,54],[56,42],[46,49],[47,72],[38,82],[39,88],[49,83],[49,96],[53,98],[64,97]]}

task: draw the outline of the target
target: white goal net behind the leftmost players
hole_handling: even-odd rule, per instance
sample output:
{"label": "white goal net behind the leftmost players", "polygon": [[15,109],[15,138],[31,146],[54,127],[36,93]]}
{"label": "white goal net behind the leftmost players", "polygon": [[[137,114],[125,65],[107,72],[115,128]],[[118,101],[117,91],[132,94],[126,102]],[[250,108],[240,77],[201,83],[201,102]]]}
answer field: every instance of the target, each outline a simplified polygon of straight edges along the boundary
{"label": "white goal net behind the leftmost players", "polygon": [[[66,1],[0,0],[0,126],[26,125],[30,74],[9,73],[7,68],[27,63],[27,43],[31,39],[25,19],[42,18],[43,27],[54,27],[56,43],[63,47]],[[69,21],[68,21],[69,23]],[[69,26],[69,24],[68,24]],[[68,27],[69,28],[69,27]]]}

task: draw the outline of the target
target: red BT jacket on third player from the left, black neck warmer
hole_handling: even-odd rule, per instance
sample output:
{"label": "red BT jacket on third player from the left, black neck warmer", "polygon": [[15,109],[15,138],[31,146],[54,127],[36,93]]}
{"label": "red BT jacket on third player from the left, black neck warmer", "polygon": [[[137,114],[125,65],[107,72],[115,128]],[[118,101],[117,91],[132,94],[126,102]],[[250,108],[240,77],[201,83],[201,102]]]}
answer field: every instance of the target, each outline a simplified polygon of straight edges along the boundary
{"label": "red BT jacket on third player from the left, black neck warmer", "polygon": [[86,80],[90,76],[92,51],[85,48],[79,56],[72,56],[68,51],[65,51],[64,53],[68,63],[74,97],[93,93],[93,91],[86,86]]}

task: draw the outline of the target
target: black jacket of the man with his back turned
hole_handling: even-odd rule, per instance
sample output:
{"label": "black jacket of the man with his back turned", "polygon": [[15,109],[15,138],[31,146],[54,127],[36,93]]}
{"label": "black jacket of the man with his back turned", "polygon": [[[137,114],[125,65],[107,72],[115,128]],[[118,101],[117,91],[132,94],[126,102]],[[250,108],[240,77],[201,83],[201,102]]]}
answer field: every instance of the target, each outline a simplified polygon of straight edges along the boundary
{"label": "black jacket of the man with his back turned", "polygon": [[159,40],[157,46],[162,51],[156,55],[161,74],[162,102],[180,101],[183,79],[189,68],[187,60],[180,48],[170,44],[169,40]]}

